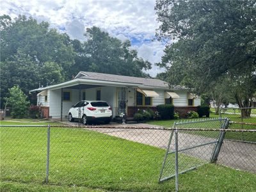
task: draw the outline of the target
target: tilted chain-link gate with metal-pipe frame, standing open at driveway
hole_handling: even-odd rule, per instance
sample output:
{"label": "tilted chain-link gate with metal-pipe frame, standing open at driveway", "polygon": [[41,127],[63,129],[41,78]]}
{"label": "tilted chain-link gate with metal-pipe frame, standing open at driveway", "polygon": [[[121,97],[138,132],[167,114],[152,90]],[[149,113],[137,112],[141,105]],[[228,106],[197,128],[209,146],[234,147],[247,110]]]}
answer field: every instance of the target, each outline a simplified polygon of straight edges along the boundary
{"label": "tilted chain-link gate with metal-pipe frame, standing open at driveway", "polygon": [[[178,191],[179,174],[207,163],[216,163],[225,137],[225,132],[220,129],[227,129],[228,123],[227,118],[175,122],[164,156],[159,182],[175,177],[176,191]],[[205,129],[205,132],[200,132],[202,129]],[[219,131],[210,132],[211,129]]]}

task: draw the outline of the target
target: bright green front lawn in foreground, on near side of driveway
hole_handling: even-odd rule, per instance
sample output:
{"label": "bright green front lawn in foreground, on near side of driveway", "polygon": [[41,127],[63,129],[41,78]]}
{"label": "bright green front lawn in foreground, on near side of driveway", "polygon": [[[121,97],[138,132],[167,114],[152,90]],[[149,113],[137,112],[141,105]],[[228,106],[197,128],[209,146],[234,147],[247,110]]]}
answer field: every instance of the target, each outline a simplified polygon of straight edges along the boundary
{"label": "bright green front lawn in foreground, on near side of driveway", "polygon": [[[78,128],[51,129],[50,182],[42,184],[46,131],[0,127],[1,191],[175,190],[174,179],[157,182],[165,150]],[[256,191],[255,174],[216,164],[179,182],[180,191]]]}

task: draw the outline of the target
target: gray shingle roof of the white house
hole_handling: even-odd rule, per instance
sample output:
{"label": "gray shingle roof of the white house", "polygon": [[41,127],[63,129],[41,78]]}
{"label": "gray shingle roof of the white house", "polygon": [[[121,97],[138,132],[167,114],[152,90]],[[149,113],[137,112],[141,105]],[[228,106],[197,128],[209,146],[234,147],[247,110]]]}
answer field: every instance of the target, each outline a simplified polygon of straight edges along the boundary
{"label": "gray shingle roof of the white house", "polygon": [[131,77],[131,76],[119,76],[113,74],[102,74],[96,72],[80,72],[82,75],[76,78],[81,79],[94,79],[100,81],[115,81],[119,83],[134,83],[141,84],[143,86],[157,86],[161,88],[169,88],[168,83],[161,81],[160,79],[143,78],[143,77]]}

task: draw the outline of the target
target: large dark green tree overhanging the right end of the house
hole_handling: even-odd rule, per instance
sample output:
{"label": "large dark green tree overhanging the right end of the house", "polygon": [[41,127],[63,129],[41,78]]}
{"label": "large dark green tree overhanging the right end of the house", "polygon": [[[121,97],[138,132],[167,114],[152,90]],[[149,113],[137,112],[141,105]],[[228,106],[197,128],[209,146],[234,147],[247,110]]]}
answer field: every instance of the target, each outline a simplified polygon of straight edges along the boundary
{"label": "large dark green tree overhanging the right end of the house", "polygon": [[246,100],[256,90],[256,84],[246,84],[256,76],[255,1],[158,0],[155,9],[161,22],[157,36],[168,42],[159,65],[168,69],[170,83],[204,93],[221,76],[234,82],[238,76],[232,71],[246,71],[239,75],[244,97],[236,98],[250,107]]}

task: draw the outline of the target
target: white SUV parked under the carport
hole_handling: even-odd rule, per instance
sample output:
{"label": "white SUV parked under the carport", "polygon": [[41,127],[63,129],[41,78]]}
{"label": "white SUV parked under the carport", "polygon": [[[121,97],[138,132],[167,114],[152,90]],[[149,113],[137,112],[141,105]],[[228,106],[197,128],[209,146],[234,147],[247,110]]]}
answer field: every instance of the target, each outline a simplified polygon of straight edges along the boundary
{"label": "white SUV parked under the carport", "polygon": [[[79,108],[81,114],[79,116]],[[83,124],[88,122],[102,120],[109,124],[112,119],[112,110],[109,104],[103,100],[82,100],[68,111],[68,120],[73,122],[74,119],[82,118]]]}

